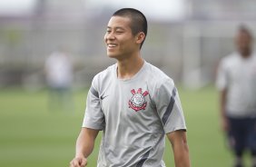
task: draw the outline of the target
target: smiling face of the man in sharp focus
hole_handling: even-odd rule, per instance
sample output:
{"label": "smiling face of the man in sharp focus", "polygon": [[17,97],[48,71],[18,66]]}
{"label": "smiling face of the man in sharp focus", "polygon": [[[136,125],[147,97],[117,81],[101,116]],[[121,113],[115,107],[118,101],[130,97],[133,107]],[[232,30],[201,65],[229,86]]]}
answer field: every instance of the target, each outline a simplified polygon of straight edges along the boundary
{"label": "smiling face of the man in sharp focus", "polygon": [[111,17],[107,25],[106,34],[104,35],[104,42],[109,57],[122,60],[138,50],[137,37],[132,34],[130,24],[131,20],[129,17]]}

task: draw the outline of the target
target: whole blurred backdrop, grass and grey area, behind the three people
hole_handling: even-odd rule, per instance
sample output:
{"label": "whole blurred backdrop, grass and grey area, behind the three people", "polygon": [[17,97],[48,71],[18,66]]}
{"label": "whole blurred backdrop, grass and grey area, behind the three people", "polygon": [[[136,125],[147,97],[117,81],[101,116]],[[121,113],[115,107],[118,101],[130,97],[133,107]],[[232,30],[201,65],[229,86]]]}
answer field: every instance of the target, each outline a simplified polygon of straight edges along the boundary
{"label": "whole blurred backdrop, grass and grey area, behind the three people", "polygon": [[[238,26],[248,25],[255,34],[255,6],[253,0],[0,0],[0,166],[68,166],[88,87],[94,74],[114,63],[103,35],[121,7],[147,16],[143,57],[180,87],[193,166],[229,166],[215,74],[220,59],[235,50]],[[66,112],[51,112],[45,62],[60,47],[72,63],[64,100],[72,104]],[[97,147],[89,166],[96,157]]]}

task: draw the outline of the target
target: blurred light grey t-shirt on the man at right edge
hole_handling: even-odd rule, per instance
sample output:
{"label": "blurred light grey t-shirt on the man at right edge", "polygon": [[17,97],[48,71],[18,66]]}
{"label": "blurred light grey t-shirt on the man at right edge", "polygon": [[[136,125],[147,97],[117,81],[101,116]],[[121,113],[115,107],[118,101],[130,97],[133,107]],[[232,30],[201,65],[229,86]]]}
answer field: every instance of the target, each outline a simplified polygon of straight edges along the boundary
{"label": "blurred light grey t-shirt on the man at right edge", "polygon": [[239,53],[222,59],[216,81],[219,90],[227,89],[226,113],[231,117],[256,116],[256,55],[242,58]]}

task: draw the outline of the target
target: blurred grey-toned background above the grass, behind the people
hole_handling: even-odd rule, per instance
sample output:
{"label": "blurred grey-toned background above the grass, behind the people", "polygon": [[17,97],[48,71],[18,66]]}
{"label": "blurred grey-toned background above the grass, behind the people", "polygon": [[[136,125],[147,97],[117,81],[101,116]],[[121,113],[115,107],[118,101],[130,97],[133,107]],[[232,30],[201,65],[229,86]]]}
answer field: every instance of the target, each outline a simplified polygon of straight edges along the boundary
{"label": "blurred grey-toned background above the grass, behind the people", "polygon": [[[145,4],[146,3],[146,4]],[[240,24],[255,31],[251,0],[9,0],[0,1],[0,86],[44,86],[44,61],[59,45],[74,59],[74,86],[88,86],[113,60],[103,34],[113,11],[135,7],[147,15],[143,57],[179,83],[212,83],[230,54]],[[192,80],[191,80],[192,78]]]}

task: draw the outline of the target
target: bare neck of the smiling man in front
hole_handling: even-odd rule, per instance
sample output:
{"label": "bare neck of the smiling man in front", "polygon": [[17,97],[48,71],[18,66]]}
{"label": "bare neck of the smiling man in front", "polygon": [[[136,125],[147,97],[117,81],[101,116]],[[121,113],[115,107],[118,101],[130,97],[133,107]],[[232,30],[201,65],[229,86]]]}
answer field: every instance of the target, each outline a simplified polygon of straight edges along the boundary
{"label": "bare neck of the smiling man in front", "polygon": [[117,77],[119,79],[131,79],[143,67],[141,55],[129,57],[128,59],[117,61]]}

